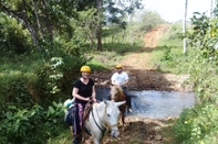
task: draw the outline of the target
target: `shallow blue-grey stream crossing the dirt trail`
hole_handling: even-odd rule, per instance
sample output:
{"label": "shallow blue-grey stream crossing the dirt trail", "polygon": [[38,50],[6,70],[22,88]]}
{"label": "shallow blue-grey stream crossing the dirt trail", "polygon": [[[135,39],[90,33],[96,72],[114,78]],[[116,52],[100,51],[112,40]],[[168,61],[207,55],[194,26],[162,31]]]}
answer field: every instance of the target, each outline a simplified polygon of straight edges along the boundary
{"label": "shallow blue-grey stream crossing the dirt trail", "polygon": [[[96,89],[97,100],[107,100],[110,89]],[[185,108],[195,104],[194,92],[180,91],[131,91],[133,112],[128,115],[138,115],[150,119],[178,117]]]}

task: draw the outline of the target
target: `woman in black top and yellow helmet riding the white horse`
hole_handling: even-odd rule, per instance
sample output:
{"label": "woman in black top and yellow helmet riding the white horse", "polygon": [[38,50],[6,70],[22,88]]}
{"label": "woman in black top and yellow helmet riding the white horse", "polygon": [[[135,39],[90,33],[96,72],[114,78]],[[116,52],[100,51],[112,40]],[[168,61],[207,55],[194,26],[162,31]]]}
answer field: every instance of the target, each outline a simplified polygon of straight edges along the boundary
{"label": "woman in black top and yellow helmet riding the white horse", "polygon": [[90,78],[91,68],[89,66],[81,67],[81,78],[76,80],[72,95],[75,98],[75,113],[73,121],[73,144],[79,144],[82,140],[82,126],[83,126],[83,112],[87,101],[91,99],[96,102],[95,99],[95,86],[94,81]]}

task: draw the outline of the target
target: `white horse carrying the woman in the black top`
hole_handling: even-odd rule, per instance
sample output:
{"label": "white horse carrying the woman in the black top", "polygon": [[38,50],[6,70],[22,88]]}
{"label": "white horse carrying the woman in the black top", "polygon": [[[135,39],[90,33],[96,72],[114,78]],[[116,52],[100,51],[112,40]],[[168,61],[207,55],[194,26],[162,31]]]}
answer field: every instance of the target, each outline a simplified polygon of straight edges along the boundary
{"label": "white horse carrying the woman in the black top", "polygon": [[111,136],[117,137],[120,110],[118,107],[125,103],[125,101],[102,101],[94,103],[93,109],[90,112],[87,120],[84,122],[85,129],[92,135],[94,144],[101,144],[103,136],[111,130]]}

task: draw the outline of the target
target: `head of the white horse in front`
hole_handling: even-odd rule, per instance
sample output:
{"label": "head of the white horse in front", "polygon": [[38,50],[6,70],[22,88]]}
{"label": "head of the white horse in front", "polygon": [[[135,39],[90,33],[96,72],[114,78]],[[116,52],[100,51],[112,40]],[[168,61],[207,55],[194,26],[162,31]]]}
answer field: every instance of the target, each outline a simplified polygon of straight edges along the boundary
{"label": "head of the white horse in front", "polygon": [[120,135],[118,132],[118,121],[120,121],[120,109],[118,107],[124,104],[125,101],[114,102],[114,101],[105,101],[106,104],[106,119],[107,126],[111,130],[111,136],[117,137]]}

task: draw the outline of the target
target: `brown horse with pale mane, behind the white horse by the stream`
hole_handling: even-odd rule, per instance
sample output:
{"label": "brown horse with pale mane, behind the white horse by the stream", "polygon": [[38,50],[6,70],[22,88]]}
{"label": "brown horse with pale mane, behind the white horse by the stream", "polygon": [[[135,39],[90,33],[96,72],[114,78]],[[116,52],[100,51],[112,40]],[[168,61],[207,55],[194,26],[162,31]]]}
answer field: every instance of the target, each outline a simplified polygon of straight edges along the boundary
{"label": "brown horse with pale mane, behind the white horse by the stream", "polygon": [[[120,86],[111,86],[111,100],[117,101],[126,101],[126,96],[123,92],[123,89]],[[126,111],[126,102],[118,107],[121,111],[121,118],[123,125],[125,124],[125,111]]]}

